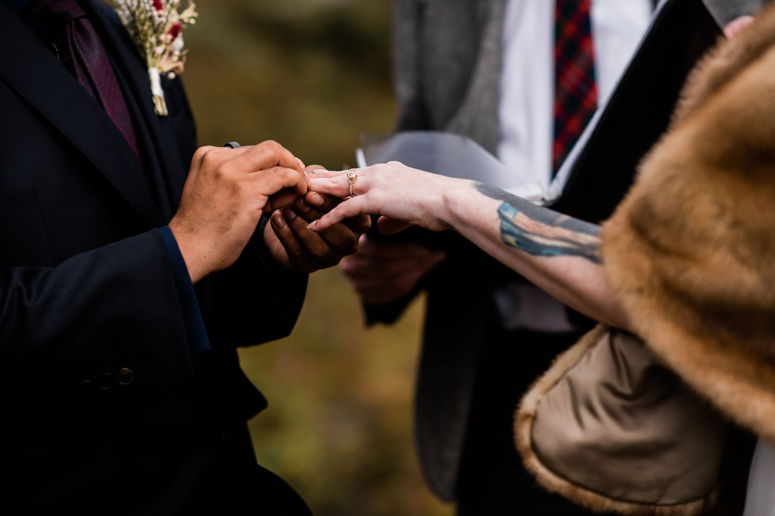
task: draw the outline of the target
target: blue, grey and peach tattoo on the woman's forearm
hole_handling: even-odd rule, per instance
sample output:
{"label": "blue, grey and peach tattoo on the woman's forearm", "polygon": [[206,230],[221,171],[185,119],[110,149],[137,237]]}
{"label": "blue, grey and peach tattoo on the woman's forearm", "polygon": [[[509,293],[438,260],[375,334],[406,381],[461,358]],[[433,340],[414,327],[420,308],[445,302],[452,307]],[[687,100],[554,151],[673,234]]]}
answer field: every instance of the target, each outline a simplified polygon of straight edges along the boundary
{"label": "blue, grey and peach tattoo on the woman's forearm", "polygon": [[502,200],[501,240],[533,256],[580,256],[602,263],[600,226],[539,207],[494,186],[474,183],[479,193]]}

